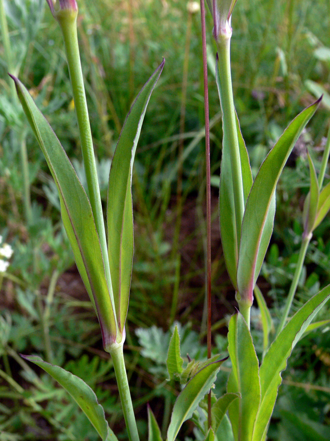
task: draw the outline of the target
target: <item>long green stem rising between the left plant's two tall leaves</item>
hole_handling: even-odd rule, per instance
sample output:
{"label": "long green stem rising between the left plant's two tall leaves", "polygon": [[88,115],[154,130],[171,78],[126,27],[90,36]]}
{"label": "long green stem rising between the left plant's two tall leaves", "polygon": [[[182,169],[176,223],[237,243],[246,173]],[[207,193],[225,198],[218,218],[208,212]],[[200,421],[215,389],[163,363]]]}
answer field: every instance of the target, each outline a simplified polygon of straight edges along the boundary
{"label": "long green stem rising between the left plant's two tall leaves", "polygon": [[[106,230],[104,225],[103,210],[100,196],[99,181],[97,177],[96,162],[93,148],[93,141],[88,117],[84,77],[80,63],[78,36],[77,36],[77,11],[63,10],[57,13],[57,20],[61,26],[66,59],[69,68],[70,81],[73,93],[74,106],[76,110],[79,137],[83,153],[83,162],[88,186],[88,196],[94,216],[96,231],[99,235],[101,250],[103,254],[106,277],[108,280],[111,302],[114,305],[114,298],[111,285],[110,266]],[[116,325],[117,326],[117,325]]]}

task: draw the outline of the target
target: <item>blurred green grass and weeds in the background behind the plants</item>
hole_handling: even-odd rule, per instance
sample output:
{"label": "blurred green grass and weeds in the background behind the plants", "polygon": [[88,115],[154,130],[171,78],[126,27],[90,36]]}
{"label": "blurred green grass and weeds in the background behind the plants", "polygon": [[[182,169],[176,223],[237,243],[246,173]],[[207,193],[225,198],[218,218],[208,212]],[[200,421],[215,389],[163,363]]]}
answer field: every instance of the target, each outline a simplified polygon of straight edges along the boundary
{"label": "blurred green grass and weeds in the background behind the plants", "polygon": [[[97,439],[66,393],[46,374],[35,372],[19,353],[41,354],[81,376],[96,391],[118,439],[126,439],[112,363],[102,350],[99,327],[63,232],[56,187],[6,74],[11,63],[12,73],[28,87],[84,183],[60,28],[44,0],[1,2],[11,60],[2,32],[0,234],[13,255],[0,273],[0,441],[81,440],[82,430],[84,440]],[[177,385],[165,381],[168,329],[175,320],[183,325],[182,354],[205,356],[204,104],[200,13],[192,3],[78,1],[81,57],[104,202],[111,156],[132,100],[162,57],[166,59],[147,110],[133,173],[135,255],[126,352],[144,438],[146,403],[165,428],[178,393]],[[225,352],[235,293],[220,245],[222,133],[209,11],[206,19],[214,220],[212,320],[215,351]],[[330,120],[330,3],[239,0],[232,27],[234,97],[254,173],[290,120],[324,94],[277,189],[274,234],[258,281],[276,321],[301,241],[302,205],[309,188],[307,147],[319,164]],[[22,146],[29,164],[25,186]],[[30,215],[24,210],[26,189]],[[328,284],[329,276],[328,218],[308,248],[295,308]],[[320,319],[329,318],[329,306],[322,314]],[[262,350],[257,308],[252,319],[254,339]],[[297,345],[284,374],[269,440],[330,439],[329,330],[328,326],[310,333]],[[226,375],[225,368],[219,391],[225,388]],[[188,440],[198,433],[187,425],[180,436]]]}

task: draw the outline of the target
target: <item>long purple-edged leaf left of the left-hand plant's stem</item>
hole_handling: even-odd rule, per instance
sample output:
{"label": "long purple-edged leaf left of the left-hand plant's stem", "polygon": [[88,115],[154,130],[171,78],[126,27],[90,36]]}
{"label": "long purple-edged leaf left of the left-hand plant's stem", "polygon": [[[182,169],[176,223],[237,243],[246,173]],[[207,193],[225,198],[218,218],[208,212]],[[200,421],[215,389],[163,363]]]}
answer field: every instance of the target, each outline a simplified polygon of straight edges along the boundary
{"label": "long purple-edged leaf left of the left-hand plant's stem", "polygon": [[116,323],[101,246],[88,197],[50,125],[22,83],[15,77],[13,79],[24,113],[56,182],[66,233],[88,294],[92,294],[91,301],[95,302],[103,344],[107,346],[115,339]]}

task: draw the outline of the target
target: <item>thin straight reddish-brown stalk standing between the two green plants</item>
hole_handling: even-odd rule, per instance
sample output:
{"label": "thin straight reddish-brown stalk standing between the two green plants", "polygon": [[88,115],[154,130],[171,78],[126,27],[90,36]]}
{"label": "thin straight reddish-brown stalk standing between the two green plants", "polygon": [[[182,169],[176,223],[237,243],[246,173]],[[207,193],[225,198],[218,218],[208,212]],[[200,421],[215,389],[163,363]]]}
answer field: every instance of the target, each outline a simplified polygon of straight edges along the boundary
{"label": "thin straight reddish-brown stalk standing between the two green plants", "polygon": [[[203,43],[204,108],[205,108],[205,162],[206,162],[206,223],[207,223],[207,358],[211,358],[211,172],[210,172],[210,126],[209,96],[207,83],[205,6],[200,0]],[[211,427],[211,392],[208,395],[208,426]]]}

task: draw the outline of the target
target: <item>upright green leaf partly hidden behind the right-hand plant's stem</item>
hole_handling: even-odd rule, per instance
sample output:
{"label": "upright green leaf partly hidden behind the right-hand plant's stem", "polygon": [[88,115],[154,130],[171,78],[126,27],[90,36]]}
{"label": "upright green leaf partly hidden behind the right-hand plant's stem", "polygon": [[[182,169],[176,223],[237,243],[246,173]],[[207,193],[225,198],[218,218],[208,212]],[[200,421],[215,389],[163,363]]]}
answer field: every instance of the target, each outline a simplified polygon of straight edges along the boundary
{"label": "upright green leaf partly hidden behind the right-hand plant's stem", "polygon": [[[216,63],[216,83],[220,98],[220,78],[218,68],[218,57]],[[238,133],[238,142],[240,149],[242,183],[244,193],[244,203],[252,186],[252,172],[249,163],[248,153],[242,138],[240,123],[236,115],[236,125]],[[221,168],[220,168],[220,193],[219,193],[219,217],[220,217],[220,233],[223,256],[226,262],[229,277],[237,289],[236,273],[238,264],[238,250],[240,238],[237,237],[234,189],[231,173],[231,162],[229,153],[229,140],[227,131],[223,130],[222,152],[221,152]]]}

